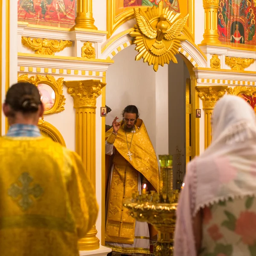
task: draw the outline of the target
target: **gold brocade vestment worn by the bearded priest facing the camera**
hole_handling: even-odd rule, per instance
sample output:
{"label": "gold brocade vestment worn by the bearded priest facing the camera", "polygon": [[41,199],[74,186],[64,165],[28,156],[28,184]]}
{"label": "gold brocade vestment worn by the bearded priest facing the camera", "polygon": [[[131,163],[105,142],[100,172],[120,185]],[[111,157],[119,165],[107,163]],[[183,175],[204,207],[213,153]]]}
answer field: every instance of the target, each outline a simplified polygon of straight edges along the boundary
{"label": "gold brocade vestment worn by the bearded priest facing the camera", "polygon": [[113,157],[105,230],[105,240],[109,242],[122,244],[134,242],[135,220],[123,204],[138,191],[138,175],[141,173],[154,189],[158,190],[159,169],[153,145],[143,121],[138,119],[136,125],[130,148],[132,160],[128,156],[128,145],[130,145],[132,133],[127,132],[126,140],[124,125],[121,126],[117,135],[113,134],[113,128],[106,132],[108,143],[113,143],[116,149]]}

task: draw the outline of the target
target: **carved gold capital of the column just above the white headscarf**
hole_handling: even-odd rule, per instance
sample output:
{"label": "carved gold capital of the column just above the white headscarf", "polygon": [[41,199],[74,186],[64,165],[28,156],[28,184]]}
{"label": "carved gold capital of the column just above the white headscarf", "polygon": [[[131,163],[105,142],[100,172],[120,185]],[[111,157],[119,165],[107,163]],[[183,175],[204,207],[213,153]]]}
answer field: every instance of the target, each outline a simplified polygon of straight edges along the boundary
{"label": "carved gold capital of the column just above the white headscarf", "polygon": [[198,96],[203,102],[203,109],[213,109],[215,103],[220,99],[227,90],[227,85],[218,86],[197,86]]}

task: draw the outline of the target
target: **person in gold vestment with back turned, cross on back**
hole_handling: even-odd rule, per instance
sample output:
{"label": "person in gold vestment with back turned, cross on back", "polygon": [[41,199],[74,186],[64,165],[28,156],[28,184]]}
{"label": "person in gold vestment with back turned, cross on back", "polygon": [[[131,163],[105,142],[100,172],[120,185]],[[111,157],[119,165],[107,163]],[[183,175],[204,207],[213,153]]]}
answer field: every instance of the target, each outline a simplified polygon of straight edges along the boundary
{"label": "person in gold vestment with back turned, cross on back", "polygon": [[98,213],[80,157],[41,136],[35,85],[10,87],[3,112],[10,128],[0,137],[0,254],[79,256],[78,239]]}

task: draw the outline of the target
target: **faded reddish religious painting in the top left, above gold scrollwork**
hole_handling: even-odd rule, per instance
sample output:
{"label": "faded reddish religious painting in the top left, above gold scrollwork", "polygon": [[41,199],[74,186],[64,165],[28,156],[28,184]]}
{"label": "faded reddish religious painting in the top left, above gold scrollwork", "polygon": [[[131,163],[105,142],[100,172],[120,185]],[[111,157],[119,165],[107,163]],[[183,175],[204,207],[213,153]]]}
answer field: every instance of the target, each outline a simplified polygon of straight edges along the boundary
{"label": "faded reddish religious painting in the top left, above gold scrollwork", "polygon": [[73,27],[76,0],[18,0],[18,20],[31,24]]}

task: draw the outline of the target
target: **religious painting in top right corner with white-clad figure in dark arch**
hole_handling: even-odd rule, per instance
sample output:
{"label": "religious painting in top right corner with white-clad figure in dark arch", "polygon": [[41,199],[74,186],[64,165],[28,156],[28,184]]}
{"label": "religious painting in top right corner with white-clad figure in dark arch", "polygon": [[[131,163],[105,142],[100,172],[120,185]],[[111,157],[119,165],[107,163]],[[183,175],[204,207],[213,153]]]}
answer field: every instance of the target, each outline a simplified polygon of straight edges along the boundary
{"label": "religious painting in top right corner with white-clad figure in dark arch", "polygon": [[252,0],[220,0],[218,7],[219,40],[236,46],[256,45],[256,5]]}

